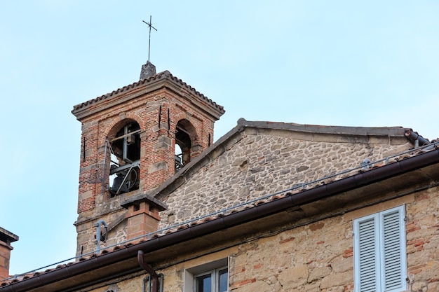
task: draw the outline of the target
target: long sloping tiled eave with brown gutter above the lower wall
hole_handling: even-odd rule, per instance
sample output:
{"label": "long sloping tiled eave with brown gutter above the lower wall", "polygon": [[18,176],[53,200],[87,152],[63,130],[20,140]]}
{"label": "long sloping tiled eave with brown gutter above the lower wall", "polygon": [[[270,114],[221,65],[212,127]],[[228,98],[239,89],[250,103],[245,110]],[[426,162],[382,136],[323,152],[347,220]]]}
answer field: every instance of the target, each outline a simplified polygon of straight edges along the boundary
{"label": "long sloping tiled eave with brown gutter above the lower wall", "polygon": [[[170,252],[172,249],[170,250],[169,247],[172,248],[175,244],[182,244],[182,242],[221,230],[229,230],[230,228],[241,226],[266,216],[272,216],[301,204],[317,202],[323,198],[356,188],[370,186],[373,183],[379,183],[386,179],[396,178],[394,183],[400,185],[402,183],[398,176],[417,172],[417,170],[420,171],[417,172],[414,179],[433,181],[428,187],[439,186],[438,164],[439,141],[432,141],[431,144],[400,153],[400,155],[395,155],[391,159],[373,162],[370,164],[370,167],[348,169],[342,172],[344,176],[341,179],[336,179],[335,181],[332,181],[331,178],[326,178],[313,181],[307,186],[302,186],[302,188],[292,188],[276,194],[266,195],[237,206],[235,209],[221,210],[215,214],[176,225],[173,228],[158,230],[158,232],[145,235],[143,238],[134,239],[133,242],[123,242],[115,246],[109,246],[106,249],[100,250],[100,253],[93,253],[75,263],[58,265],[54,269],[48,269],[44,272],[33,272],[15,279],[8,279],[1,282],[0,291],[37,291],[41,286],[45,287],[45,291],[59,291],[62,281],[67,281],[69,278],[75,278],[70,282],[71,287],[76,287],[76,285],[81,283],[87,285],[88,281],[93,277],[102,279],[105,267],[111,266],[114,269],[113,265],[121,267],[121,263],[123,263],[123,267],[129,267],[131,272],[140,271],[141,269],[136,260],[137,251],[139,250],[154,253],[154,251],[166,249],[167,252]],[[410,181],[405,183],[410,184]],[[381,188],[386,188],[386,186],[381,186]],[[402,195],[404,194],[406,193]],[[238,231],[235,229],[234,232],[241,232],[240,230],[238,228]],[[228,235],[231,235],[231,233],[229,232]],[[187,245],[186,248],[191,249],[191,244]],[[178,252],[180,251],[182,250]],[[169,255],[163,252],[159,254],[161,257]],[[154,255],[157,256],[158,253],[154,253]],[[154,260],[154,257],[148,259]],[[114,272],[112,269],[107,270]],[[86,276],[84,273],[90,270],[93,270],[93,273],[87,273]]]}

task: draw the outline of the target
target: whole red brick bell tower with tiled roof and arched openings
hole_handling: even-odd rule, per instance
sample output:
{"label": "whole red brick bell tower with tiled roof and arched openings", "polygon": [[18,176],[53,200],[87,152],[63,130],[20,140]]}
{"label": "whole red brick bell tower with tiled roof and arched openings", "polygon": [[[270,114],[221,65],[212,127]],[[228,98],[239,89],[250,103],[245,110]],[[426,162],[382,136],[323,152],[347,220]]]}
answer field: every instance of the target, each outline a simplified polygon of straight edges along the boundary
{"label": "whole red brick bell tower with tiled roof and arched openings", "polygon": [[140,81],[72,113],[82,125],[80,256],[156,230],[166,205],[154,189],[210,146],[224,109],[169,71],[156,74],[148,61]]}

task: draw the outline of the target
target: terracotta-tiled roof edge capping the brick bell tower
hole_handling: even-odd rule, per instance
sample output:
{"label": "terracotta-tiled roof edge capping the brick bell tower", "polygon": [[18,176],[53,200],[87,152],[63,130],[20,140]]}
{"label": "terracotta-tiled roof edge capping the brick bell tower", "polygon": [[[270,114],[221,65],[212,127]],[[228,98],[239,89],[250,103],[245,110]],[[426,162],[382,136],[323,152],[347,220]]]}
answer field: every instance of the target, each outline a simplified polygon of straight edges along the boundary
{"label": "terracotta-tiled roof edge capping the brick bell tower", "polygon": [[191,85],[188,85],[187,83],[182,81],[182,79],[173,76],[173,74],[171,74],[170,71],[168,71],[168,70],[160,72],[160,73],[158,73],[154,76],[151,76],[149,78],[141,79],[140,81],[137,81],[137,82],[132,83],[130,85],[123,86],[123,88],[113,90],[112,92],[109,92],[106,95],[101,95],[100,97],[96,97],[95,99],[90,99],[87,102],[82,102],[81,104],[76,104],[76,106],[73,107],[73,111],[77,111],[79,109],[82,109],[83,107],[89,106],[91,104],[95,104],[96,102],[100,102],[104,99],[108,99],[109,97],[112,97],[114,95],[118,95],[121,92],[126,92],[127,90],[137,88],[140,85],[144,85],[144,84],[151,83],[154,81],[166,80],[166,79],[173,81],[173,82],[181,85],[182,87],[186,88],[187,90],[192,92],[194,95],[198,96],[200,99],[203,99],[204,102],[210,104],[210,106],[214,107],[218,111],[220,111],[222,113],[225,112],[223,106],[220,106],[216,102],[213,102],[212,99],[205,97],[205,95],[203,95],[201,92],[198,92],[195,88],[191,87]]}

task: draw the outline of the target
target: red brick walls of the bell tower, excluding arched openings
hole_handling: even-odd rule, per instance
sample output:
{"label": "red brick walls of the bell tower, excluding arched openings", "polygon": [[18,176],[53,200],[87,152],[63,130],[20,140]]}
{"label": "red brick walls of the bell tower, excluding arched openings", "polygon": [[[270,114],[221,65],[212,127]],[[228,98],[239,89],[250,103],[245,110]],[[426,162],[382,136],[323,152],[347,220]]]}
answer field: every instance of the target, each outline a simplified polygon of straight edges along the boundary
{"label": "red brick walls of the bell tower, excluding arched openings", "polygon": [[[116,99],[127,102],[116,102]],[[163,87],[148,91],[140,86],[88,105],[90,114],[81,118],[79,217],[75,223],[77,254],[95,248],[94,223],[104,219],[110,224],[113,218],[123,215],[126,210],[121,208],[120,200],[156,188],[175,174],[175,131],[180,120],[187,120],[194,127],[191,158],[208,148],[214,122],[219,117],[209,112],[210,104],[194,106],[191,99],[198,97],[184,90],[174,92]],[[107,137],[114,138],[129,121],[137,122],[141,130],[140,186],[139,190],[110,198],[107,191],[110,156],[104,145]],[[121,240],[121,228],[125,227],[126,223],[122,222],[112,230],[109,242]]]}

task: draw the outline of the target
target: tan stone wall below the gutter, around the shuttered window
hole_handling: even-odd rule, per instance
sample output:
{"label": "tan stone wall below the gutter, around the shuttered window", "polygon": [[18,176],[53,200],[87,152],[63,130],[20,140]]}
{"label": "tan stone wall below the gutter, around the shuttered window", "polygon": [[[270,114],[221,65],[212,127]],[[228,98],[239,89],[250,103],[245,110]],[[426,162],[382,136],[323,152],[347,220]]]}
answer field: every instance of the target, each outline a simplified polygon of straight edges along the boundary
{"label": "tan stone wall below the gutter, around the shuttered window", "polygon": [[[264,230],[241,244],[194,251],[154,263],[154,268],[164,274],[164,291],[183,291],[185,269],[229,258],[229,291],[353,292],[353,220],[405,205],[407,291],[439,291],[438,198],[435,187],[339,216],[304,218],[278,230]],[[139,291],[143,278],[134,275],[117,284],[113,280],[112,287]],[[102,285],[93,290],[97,291],[107,292]]]}

